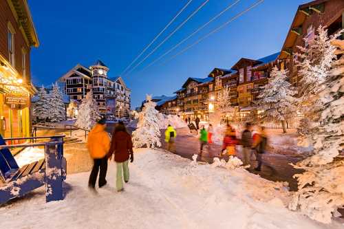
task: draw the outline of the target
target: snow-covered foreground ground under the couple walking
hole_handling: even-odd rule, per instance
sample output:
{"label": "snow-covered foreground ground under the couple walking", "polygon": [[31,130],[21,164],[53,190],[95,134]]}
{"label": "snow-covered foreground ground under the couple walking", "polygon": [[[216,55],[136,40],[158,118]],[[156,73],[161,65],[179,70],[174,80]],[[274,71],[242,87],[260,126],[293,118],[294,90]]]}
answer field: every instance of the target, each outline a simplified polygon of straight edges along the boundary
{"label": "snow-covered foreground ground under the couple walking", "polygon": [[67,176],[67,196],[45,204],[44,188],[0,208],[1,228],[343,228],[324,225],[285,206],[281,184],[244,169],[198,164],[166,153],[136,149],[130,181],[116,193],[116,166],[98,195],[87,188],[89,173]]}

